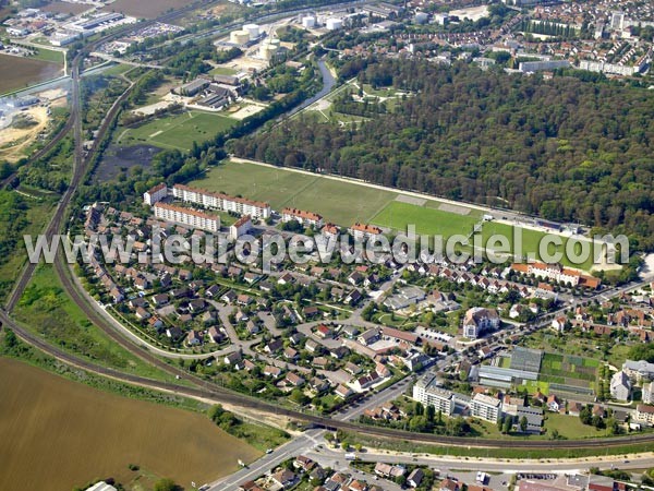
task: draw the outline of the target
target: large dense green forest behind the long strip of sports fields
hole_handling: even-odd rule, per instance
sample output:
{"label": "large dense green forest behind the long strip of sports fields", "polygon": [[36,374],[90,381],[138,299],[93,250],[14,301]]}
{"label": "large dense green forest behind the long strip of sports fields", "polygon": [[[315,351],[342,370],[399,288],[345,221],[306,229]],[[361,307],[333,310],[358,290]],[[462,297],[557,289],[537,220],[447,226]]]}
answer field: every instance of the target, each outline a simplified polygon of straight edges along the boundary
{"label": "large dense green forest behind the long strip of sports fields", "polygon": [[358,127],[293,119],[232,152],[626,231],[654,249],[654,91],[374,58],[340,75],[412,95]]}

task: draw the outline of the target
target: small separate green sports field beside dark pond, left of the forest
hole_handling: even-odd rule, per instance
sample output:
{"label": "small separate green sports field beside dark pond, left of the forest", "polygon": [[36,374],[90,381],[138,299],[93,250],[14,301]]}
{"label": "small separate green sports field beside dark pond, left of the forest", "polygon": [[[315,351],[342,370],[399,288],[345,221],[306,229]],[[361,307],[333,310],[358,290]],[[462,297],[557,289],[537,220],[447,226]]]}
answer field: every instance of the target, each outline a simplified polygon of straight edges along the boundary
{"label": "small separate green sports field beside dark pond, left of the forest", "polygon": [[204,142],[234,125],[237,120],[222,115],[189,111],[148,121],[136,128],[119,130],[121,145],[148,143],[162,148],[190,149],[193,142]]}

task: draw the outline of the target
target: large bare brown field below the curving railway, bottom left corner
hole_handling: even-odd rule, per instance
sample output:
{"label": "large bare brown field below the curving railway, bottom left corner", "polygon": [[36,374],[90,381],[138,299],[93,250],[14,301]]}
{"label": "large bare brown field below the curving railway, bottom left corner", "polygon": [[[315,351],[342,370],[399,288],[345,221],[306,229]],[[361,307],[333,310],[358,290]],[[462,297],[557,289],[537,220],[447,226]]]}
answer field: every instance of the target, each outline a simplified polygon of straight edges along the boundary
{"label": "large bare brown field below the curving railway, bottom left corner", "polygon": [[[202,414],[108,394],[0,359],[0,489],[70,490],[113,477],[126,490],[161,477],[184,489],[262,453]],[[134,464],[138,470],[130,470]]]}

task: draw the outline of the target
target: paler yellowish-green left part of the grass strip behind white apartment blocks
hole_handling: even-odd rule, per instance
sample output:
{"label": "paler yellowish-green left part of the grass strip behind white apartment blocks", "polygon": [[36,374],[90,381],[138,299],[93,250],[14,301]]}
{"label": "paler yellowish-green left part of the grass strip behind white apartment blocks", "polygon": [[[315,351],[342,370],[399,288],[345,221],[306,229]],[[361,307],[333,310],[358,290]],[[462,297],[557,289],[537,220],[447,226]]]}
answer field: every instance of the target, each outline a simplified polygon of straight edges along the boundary
{"label": "paler yellowish-green left part of the grass strip behind white apartment blocks", "polygon": [[227,161],[192,183],[199,188],[267,201],[274,209],[294,206],[350,226],[368,221],[397,193],[255,164]]}

